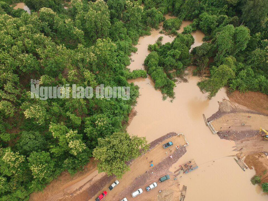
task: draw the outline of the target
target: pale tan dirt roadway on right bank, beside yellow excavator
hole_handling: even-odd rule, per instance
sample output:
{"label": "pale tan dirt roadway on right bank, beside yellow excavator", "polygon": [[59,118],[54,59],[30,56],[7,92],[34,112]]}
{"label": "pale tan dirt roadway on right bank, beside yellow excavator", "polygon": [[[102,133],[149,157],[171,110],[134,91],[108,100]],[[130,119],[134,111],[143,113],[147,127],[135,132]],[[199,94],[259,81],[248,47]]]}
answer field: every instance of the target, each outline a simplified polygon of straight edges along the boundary
{"label": "pale tan dirt roadway on right bank, beside yellow excavator", "polygon": [[260,128],[268,130],[266,114],[223,100],[219,103],[218,112],[207,120],[212,121],[211,124],[220,138],[234,140],[237,150],[243,149],[244,154],[268,151],[268,141],[259,134]]}

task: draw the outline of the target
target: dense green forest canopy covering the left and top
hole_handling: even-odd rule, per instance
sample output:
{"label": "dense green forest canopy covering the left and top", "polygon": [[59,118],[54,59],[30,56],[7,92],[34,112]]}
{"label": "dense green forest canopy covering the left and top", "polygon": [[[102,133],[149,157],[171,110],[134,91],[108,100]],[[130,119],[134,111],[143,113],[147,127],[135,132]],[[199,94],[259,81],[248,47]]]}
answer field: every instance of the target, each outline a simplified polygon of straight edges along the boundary
{"label": "dense green forest canopy covering the left and top", "polygon": [[[14,10],[14,2],[0,0],[1,201],[27,200],[93,155],[100,171],[122,176],[125,162],[147,149],[146,139],[125,131],[139,95],[128,79],[149,74],[174,97],[176,77],[191,63],[201,74],[213,58],[210,77],[199,83],[209,97],[223,86],[268,94],[268,0],[24,0],[31,14]],[[167,13],[178,18],[166,20]],[[193,23],[178,34],[182,20]],[[159,38],[148,47],[146,71],[130,72],[138,38],[160,22],[176,39]],[[206,42],[189,53],[197,29]],[[31,79],[41,86],[129,86],[131,96],[32,99]]]}

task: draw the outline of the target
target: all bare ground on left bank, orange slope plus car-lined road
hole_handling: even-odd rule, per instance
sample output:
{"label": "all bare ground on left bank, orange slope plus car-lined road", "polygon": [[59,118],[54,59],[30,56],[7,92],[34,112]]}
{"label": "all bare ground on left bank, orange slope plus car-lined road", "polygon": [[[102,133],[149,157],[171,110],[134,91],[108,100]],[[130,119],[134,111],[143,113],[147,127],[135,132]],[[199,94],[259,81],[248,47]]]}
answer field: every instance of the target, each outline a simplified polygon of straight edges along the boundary
{"label": "all bare ground on left bank, orange slope plus car-lined road", "polygon": [[[164,149],[163,143],[172,141],[174,143],[170,148]],[[85,172],[80,172],[74,178],[68,173],[63,173],[58,180],[50,184],[44,192],[34,193],[31,195],[31,201],[94,201],[95,198],[107,191],[109,194],[106,200],[118,201],[127,197],[132,200],[131,193],[138,188],[143,190],[153,182],[166,174],[170,174],[171,179],[163,184],[159,184],[155,191],[143,193],[139,196],[140,201],[150,201],[151,198],[159,198],[163,200],[168,198],[177,199],[180,196],[179,180],[174,180],[179,172],[172,173],[169,168],[178,161],[178,159],[186,153],[184,135],[176,133],[166,134],[150,143],[148,152],[130,162],[131,170],[119,179],[120,185],[113,191],[109,191],[108,187],[116,180],[115,176],[108,177],[105,173],[98,174],[96,169],[96,161],[92,159],[90,167],[85,167]],[[172,156],[172,158],[170,158]],[[153,167],[150,167],[150,162]],[[178,167],[179,168],[179,167]],[[161,189],[160,189],[161,188]],[[161,193],[159,193],[159,191]],[[144,190],[145,191],[145,190]],[[154,199],[153,199],[154,200]]]}

